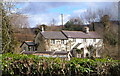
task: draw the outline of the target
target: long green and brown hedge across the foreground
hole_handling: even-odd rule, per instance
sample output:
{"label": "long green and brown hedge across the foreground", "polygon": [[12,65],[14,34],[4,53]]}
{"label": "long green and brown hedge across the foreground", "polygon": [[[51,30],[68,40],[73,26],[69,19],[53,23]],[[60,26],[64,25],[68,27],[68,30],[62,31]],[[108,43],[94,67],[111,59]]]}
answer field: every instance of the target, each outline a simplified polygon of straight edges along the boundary
{"label": "long green and brown hedge across the foreground", "polygon": [[[34,55],[10,54],[2,56],[3,76],[53,76],[53,75],[119,75],[120,61],[104,59],[72,58],[66,61],[60,58],[46,58]],[[114,72],[111,72],[111,71]]]}

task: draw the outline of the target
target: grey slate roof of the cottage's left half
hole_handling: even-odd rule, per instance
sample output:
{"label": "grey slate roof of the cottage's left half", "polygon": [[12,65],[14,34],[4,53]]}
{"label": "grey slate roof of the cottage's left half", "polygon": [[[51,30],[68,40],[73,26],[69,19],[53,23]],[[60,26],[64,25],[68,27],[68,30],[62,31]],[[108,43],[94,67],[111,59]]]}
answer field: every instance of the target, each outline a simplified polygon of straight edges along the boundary
{"label": "grey slate roof of the cottage's left half", "polygon": [[41,34],[46,39],[67,39],[64,34],[62,34],[61,31],[44,31],[41,32]]}

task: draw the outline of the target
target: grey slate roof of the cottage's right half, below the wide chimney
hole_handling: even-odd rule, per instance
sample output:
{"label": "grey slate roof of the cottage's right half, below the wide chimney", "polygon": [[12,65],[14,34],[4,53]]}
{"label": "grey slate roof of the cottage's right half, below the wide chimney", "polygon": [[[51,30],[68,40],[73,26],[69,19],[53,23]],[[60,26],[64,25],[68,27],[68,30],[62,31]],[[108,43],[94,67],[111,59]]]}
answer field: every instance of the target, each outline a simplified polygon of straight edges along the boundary
{"label": "grey slate roof of the cottage's right half, below the wide chimney", "polygon": [[68,38],[101,38],[96,32],[90,31],[85,33],[83,31],[62,31]]}

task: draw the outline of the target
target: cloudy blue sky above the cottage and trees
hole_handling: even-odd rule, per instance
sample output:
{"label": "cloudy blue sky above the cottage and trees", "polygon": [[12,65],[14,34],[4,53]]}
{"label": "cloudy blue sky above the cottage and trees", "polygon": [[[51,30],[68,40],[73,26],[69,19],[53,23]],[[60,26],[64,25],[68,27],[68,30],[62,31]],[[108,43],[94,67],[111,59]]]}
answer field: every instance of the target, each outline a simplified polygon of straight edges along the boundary
{"label": "cloudy blue sky above the cottage and trees", "polygon": [[16,5],[15,12],[28,16],[30,27],[37,24],[50,25],[55,19],[56,25],[61,24],[61,14],[64,15],[64,23],[71,17],[79,17],[87,9],[110,8],[112,2],[22,2]]}

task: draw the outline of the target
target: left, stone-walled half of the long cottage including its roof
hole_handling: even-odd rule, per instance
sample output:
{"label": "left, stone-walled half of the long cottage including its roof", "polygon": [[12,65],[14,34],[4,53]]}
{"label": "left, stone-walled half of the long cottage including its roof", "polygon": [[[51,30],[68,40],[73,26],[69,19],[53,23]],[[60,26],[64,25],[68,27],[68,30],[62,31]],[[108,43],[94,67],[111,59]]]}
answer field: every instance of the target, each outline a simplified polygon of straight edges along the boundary
{"label": "left, stone-walled half of the long cottage including its roof", "polygon": [[37,50],[40,51],[66,51],[67,37],[61,31],[44,31],[35,38]]}

